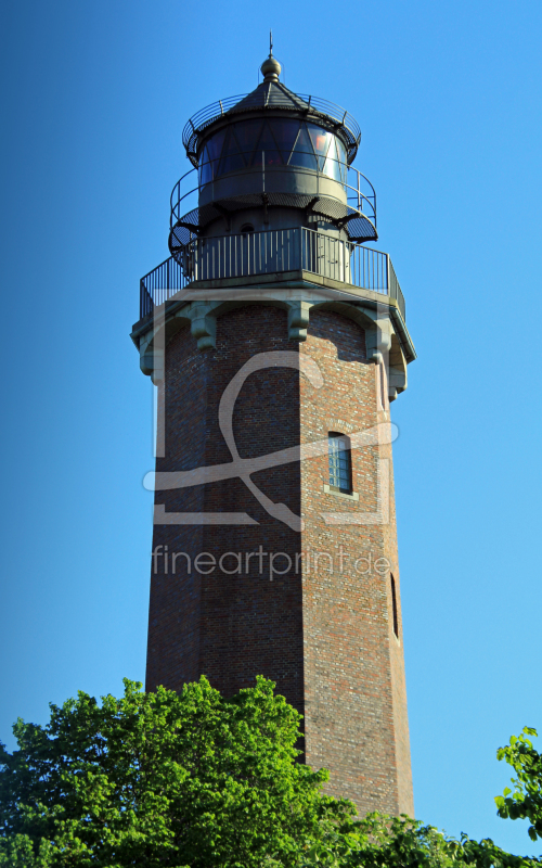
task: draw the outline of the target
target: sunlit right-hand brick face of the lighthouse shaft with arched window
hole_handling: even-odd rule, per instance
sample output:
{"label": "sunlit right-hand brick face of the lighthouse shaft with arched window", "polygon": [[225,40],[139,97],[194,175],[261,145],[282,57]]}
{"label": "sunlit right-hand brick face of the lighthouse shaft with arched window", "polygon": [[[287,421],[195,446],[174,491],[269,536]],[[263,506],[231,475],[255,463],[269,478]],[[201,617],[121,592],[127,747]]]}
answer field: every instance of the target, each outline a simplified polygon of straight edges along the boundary
{"label": "sunlit right-hand brick face of the lighthouse shaft with arched window", "polygon": [[[365,361],[358,324],[331,310],[312,311],[300,352],[324,376],[321,390],[301,382],[302,442],[330,431],[364,431],[388,418],[378,409],[377,368]],[[320,569],[304,576],[307,762],[330,768],[328,791],[352,799],[363,813],[412,813],[402,648],[393,635],[389,570],[379,560],[392,565],[399,592],[392,489],[389,524],[330,526],[321,518],[376,512],[377,458],[390,459],[391,447],[352,451],[358,502],[324,493],[326,456],[301,465],[304,549],[334,552],[333,564],[319,559]],[[349,554],[343,571],[340,547]],[[371,558],[378,570],[364,561],[358,572],[357,558]]]}

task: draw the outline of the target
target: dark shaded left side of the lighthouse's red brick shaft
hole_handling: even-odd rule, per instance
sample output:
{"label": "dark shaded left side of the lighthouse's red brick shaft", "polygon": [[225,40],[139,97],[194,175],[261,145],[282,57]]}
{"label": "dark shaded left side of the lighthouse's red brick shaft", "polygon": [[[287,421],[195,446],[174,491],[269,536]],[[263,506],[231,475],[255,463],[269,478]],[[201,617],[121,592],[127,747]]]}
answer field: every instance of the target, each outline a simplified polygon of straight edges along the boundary
{"label": "dark shaded left side of the lighthouse's red brick shaft", "polygon": [[[217,349],[197,354],[188,329],[179,332],[166,350],[167,457],[157,470],[191,469],[231,461],[218,425],[220,397],[242,365],[256,353],[296,352],[287,340],[286,312],[273,307],[244,307],[217,322]],[[185,408],[185,409],[184,409]],[[180,422],[179,413],[184,413]],[[299,373],[276,368],[251,374],[235,404],[234,435],[242,458],[256,457],[294,446],[299,442]],[[299,513],[299,464],[285,464],[256,473],[254,482],[274,502],[284,502]],[[197,500],[197,506],[195,502]],[[257,674],[276,681],[278,690],[302,713],[302,598],[301,576],[276,576],[269,580],[268,566],[259,574],[256,559],[246,553],[299,548],[299,534],[272,519],[238,480],[196,488],[158,492],[156,502],[168,512],[202,510],[246,511],[259,522],[254,526],[156,526],[153,547],[169,541],[169,550],[199,551],[218,561],[229,551],[243,556],[243,574],[212,575],[196,579],[186,574],[152,576],[147,689],[157,684],[179,689],[186,680],[179,658],[197,659],[196,677],[205,673],[225,694],[251,687]],[[224,563],[233,570],[235,561]],[[162,565],[160,565],[162,566]],[[154,602],[154,597],[159,602]],[[163,623],[157,608],[166,612]],[[184,609],[191,622],[185,639]],[[173,616],[172,613],[176,613]],[[153,626],[154,624],[154,626]],[[159,638],[158,638],[159,637]],[[164,646],[176,649],[164,655]]]}

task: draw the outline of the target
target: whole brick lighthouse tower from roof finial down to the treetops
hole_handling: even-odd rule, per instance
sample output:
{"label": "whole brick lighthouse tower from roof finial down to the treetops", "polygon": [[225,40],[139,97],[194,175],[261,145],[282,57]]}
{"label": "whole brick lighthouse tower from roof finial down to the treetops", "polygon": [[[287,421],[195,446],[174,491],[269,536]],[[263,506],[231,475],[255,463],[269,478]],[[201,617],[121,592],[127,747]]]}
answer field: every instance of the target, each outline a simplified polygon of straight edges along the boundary
{"label": "whole brick lighthouse tower from roof finial down to the treetops", "polygon": [[412,815],[389,403],[415,358],[351,163],[360,131],[280,80],[185,126],[171,256],[132,340],[157,388],[146,688],[262,674],[361,813]]}

